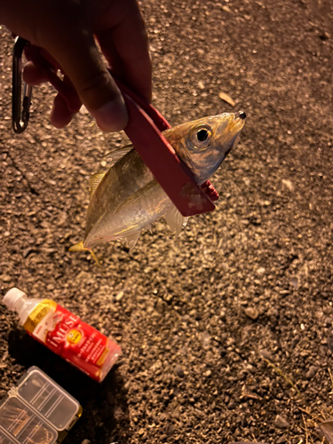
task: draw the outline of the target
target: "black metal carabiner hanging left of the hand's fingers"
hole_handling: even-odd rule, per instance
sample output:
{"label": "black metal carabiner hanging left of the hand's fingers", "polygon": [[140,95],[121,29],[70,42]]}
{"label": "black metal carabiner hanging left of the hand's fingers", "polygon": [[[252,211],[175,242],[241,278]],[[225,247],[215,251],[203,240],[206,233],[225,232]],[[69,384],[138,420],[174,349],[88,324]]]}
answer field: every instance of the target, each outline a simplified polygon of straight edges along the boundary
{"label": "black metal carabiner hanging left of the hand's fingers", "polygon": [[28,126],[32,95],[32,86],[24,83],[23,100],[21,98],[22,53],[27,43],[24,38],[16,37],[12,51],[12,129],[18,134]]}

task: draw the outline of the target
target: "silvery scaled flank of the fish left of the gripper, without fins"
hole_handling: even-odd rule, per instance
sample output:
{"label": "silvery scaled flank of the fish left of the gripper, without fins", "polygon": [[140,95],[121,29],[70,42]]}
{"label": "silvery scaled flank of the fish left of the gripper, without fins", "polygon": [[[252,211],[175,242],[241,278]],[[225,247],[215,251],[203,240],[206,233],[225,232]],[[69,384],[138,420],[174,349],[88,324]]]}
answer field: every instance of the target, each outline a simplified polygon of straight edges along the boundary
{"label": "silvery scaled flank of the fish left of the gripper, without fins", "polygon": [[[135,201],[129,202],[122,209],[124,202],[146,188],[145,205],[135,209]],[[113,193],[109,191],[113,190]],[[85,246],[90,247],[90,241],[109,242],[119,237],[125,237],[148,226],[159,218],[170,206],[168,196],[158,185],[154,176],[142,161],[139,154],[132,149],[127,155],[115,163],[107,171],[94,194],[87,213],[85,230]],[[161,209],[162,213],[156,209]]]}

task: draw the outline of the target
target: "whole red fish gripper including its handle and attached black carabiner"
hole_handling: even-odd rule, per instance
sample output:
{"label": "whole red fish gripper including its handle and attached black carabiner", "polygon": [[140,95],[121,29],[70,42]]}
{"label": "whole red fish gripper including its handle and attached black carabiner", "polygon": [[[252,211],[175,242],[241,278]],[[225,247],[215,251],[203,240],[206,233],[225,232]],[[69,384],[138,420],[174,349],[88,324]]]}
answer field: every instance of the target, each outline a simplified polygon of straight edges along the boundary
{"label": "whole red fish gripper including its handle and attached black carabiner", "polygon": [[[27,106],[23,102],[21,115],[20,106],[18,106],[18,103],[20,103],[18,93],[20,92],[21,83],[21,71],[18,72],[18,70],[21,70],[20,58],[23,49],[26,51],[27,58],[31,59],[44,71],[44,75],[49,82],[67,101],[68,108],[74,110],[77,107],[77,94],[74,87],[63,83],[59,79],[58,75],[52,70],[50,62],[44,59],[40,48],[17,37],[13,51],[12,123],[13,130],[19,133],[23,132],[28,125],[28,121],[24,121],[24,117],[28,115]],[[110,75],[112,75],[111,71]],[[199,186],[191,171],[188,170],[185,163],[179,160],[173,147],[163,137],[162,131],[168,130],[170,124],[155,107],[149,105],[146,100],[131,91],[128,86],[117,79],[115,79],[115,82],[123,94],[129,113],[129,123],[124,131],[131,140],[133,147],[155,176],[155,179],[168,194],[171,202],[184,217],[214,210],[215,205],[212,201],[218,200],[218,192],[210,184],[210,181]],[[31,95],[31,91],[29,92]]]}

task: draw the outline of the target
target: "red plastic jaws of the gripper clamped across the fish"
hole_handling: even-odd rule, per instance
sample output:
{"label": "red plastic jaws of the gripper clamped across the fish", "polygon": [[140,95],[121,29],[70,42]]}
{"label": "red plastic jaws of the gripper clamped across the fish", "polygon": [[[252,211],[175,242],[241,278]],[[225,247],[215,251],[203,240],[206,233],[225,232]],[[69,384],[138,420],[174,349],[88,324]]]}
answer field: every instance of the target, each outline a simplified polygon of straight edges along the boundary
{"label": "red plastic jaws of the gripper clamped across the fish", "polygon": [[212,201],[218,198],[215,188],[210,182],[198,186],[164,138],[162,131],[170,129],[170,124],[155,107],[117,79],[115,82],[122,91],[129,113],[129,123],[124,131],[179,212],[187,217],[214,210]]}

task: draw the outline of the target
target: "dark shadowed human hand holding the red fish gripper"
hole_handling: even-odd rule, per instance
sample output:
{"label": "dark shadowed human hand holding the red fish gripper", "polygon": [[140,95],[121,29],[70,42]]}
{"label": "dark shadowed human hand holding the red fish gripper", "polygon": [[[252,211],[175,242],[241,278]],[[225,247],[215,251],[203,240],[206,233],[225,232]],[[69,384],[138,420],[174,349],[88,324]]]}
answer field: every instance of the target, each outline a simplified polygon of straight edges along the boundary
{"label": "dark shadowed human hand holding the red fish gripper", "polygon": [[[94,36],[115,75],[151,100],[147,32],[136,0],[1,0],[0,22],[52,56],[101,130],[123,130],[128,116]],[[47,80],[31,61],[23,77],[32,85]],[[52,124],[62,128],[73,115],[58,94]]]}

